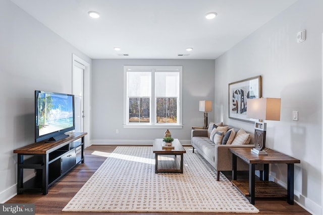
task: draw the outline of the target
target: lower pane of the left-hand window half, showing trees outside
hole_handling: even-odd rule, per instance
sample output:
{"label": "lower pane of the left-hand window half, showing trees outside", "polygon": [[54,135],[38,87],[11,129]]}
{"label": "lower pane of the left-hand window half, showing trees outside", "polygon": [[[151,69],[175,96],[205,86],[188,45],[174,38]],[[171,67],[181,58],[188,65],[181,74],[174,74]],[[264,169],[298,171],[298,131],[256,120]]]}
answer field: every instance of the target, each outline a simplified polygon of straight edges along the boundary
{"label": "lower pane of the left-hand window half, showing trees outside", "polygon": [[129,98],[129,122],[150,122],[149,98]]}

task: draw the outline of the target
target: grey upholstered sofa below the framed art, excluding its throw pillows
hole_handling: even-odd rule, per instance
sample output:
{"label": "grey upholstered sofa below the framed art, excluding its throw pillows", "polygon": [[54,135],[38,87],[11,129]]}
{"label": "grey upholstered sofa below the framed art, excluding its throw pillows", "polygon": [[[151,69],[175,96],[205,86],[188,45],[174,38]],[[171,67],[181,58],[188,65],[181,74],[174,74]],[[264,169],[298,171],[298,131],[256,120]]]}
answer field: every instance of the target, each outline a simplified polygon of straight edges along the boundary
{"label": "grey upholstered sofa below the framed art, excluding its throw pillows", "polygon": [[[209,126],[213,126],[212,122]],[[234,129],[235,133],[238,132],[238,128],[230,127],[229,129]],[[209,129],[209,133],[210,133]],[[247,132],[249,133],[249,132]],[[254,136],[250,134],[250,141],[248,144],[244,145],[216,145],[214,144],[208,135],[207,129],[193,129],[191,133],[191,141],[193,147],[193,153],[195,150],[204,157],[208,163],[210,163],[217,171],[217,180],[220,180],[220,171],[232,171],[232,153],[229,148],[236,147],[247,147],[254,148],[253,139]],[[243,162],[240,158],[237,159],[237,170],[245,171],[249,170],[249,166]],[[260,170],[260,178],[262,178],[263,165],[256,165],[256,170]]]}

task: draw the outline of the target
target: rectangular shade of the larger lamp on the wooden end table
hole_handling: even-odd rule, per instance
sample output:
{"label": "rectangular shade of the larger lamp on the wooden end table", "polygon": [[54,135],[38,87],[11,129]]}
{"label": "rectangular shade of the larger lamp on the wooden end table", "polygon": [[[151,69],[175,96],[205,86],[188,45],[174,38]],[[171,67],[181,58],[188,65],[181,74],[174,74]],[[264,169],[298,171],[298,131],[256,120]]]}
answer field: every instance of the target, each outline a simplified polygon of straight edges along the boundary
{"label": "rectangular shade of the larger lamp on the wooden end table", "polygon": [[281,120],[281,99],[260,98],[247,100],[247,118]]}

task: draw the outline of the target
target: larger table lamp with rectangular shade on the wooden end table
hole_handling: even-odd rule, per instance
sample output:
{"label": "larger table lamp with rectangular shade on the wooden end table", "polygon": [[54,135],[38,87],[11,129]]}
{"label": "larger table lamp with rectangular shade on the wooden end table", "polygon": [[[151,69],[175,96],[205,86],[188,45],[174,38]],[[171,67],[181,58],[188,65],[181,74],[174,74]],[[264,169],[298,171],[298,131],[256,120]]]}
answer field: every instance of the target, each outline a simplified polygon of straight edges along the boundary
{"label": "larger table lamp with rectangular shade on the wooden end table", "polygon": [[266,123],[263,120],[281,120],[281,99],[260,98],[247,100],[247,118],[259,119],[254,124],[254,146],[251,152],[267,155],[263,149],[266,143]]}

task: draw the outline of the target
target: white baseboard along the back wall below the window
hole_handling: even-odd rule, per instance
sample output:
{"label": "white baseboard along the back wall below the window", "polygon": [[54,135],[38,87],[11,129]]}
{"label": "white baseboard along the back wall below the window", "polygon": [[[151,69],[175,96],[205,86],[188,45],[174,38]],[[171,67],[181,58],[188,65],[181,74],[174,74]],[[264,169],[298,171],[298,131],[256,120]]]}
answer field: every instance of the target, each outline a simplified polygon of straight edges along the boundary
{"label": "white baseboard along the back wall below the window", "polygon": [[[152,145],[152,139],[92,139],[91,145]],[[182,145],[191,145],[191,140],[180,139]]]}

